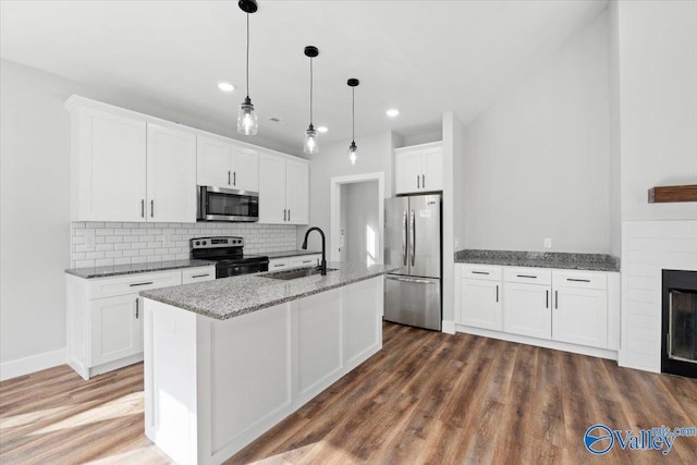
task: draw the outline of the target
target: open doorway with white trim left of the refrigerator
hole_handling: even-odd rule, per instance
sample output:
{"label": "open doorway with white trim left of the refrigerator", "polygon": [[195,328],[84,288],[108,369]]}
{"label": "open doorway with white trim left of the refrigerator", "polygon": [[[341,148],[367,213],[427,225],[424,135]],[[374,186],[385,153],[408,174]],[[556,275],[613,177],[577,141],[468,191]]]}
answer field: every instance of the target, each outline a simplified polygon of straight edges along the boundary
{"label": "open doorway with white trim left of the refrigerator", "polygon": [[383,173],[331,180],[331,260],[382,264]]}

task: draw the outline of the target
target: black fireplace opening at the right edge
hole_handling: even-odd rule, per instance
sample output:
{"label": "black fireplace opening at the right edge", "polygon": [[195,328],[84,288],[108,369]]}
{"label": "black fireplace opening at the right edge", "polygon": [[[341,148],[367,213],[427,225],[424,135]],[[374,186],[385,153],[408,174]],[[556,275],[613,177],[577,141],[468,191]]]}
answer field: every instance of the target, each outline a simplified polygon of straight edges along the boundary
{"label": "black fireplace opening at the right edge", "polygon": [[697,378],[697,271],[663,270],[661,371]]}

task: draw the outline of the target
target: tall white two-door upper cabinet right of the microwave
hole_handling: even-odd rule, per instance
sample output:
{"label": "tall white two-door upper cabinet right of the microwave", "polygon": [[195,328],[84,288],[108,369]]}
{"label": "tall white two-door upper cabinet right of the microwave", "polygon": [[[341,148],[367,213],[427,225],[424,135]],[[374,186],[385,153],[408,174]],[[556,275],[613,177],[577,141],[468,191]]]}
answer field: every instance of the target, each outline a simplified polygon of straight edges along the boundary
{"label": "tall white two-door upper cabinet right of the microwave", "polygon": [[276,154],[259,154],[259,222],[309,222],[309,162]]}

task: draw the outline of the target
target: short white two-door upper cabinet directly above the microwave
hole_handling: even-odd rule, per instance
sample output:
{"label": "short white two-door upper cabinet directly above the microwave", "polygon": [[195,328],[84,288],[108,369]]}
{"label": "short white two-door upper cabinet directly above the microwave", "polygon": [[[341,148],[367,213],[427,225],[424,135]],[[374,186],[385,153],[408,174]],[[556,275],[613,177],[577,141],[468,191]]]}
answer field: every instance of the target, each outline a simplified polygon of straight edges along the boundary
{"label": "short white two-door upper cabinet directly above the microwave", "polygon": [[222,138],[197,137],[198,185],[259,191],[259,154]]}

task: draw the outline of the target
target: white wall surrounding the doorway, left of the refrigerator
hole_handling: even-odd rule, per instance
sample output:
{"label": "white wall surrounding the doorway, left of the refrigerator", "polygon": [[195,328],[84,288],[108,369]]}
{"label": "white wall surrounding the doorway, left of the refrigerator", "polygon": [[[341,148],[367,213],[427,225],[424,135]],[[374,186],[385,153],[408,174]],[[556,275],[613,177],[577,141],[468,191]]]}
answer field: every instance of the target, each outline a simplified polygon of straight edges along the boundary
{"label": "white wall surrounding the doorway, left of the refrigerator", "polygon": [[[391,132],[356,137],[358,160],[351,164],[346,149],[351,140],[323,144],[318,155],[311,157],[309,169],[309,225],[319,227],[327,236],[327,256],[330,257],[330,184],[332,178],[355,175],[360,173],[384,173],[384,196],[392,194],[392,148],[401,143]],[[298,227],[298,245],[303,242],[307,228]],[[319,250],[319,234],[313,233],[308,240],[308,248]]]}

